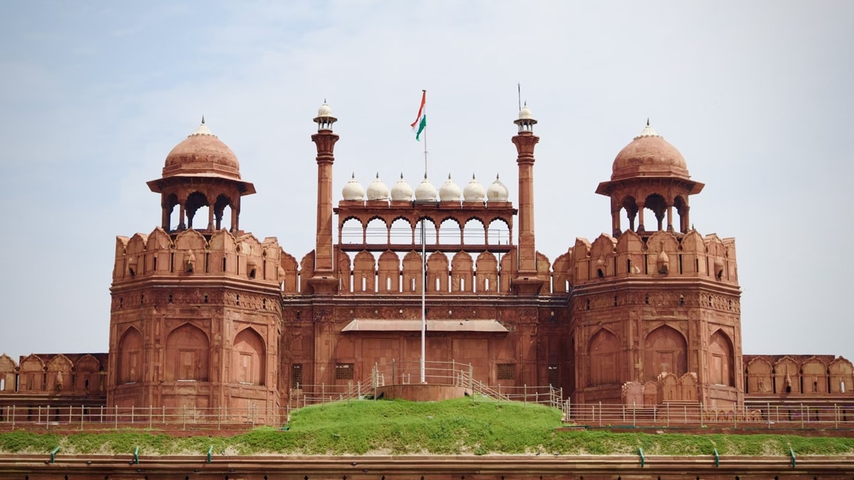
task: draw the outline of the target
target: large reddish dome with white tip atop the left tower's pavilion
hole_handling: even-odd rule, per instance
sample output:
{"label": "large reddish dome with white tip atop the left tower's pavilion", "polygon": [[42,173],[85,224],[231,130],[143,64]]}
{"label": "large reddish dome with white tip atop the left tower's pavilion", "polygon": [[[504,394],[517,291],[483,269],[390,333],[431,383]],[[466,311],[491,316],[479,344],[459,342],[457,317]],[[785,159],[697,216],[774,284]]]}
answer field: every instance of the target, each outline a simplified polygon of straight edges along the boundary
{"label": "large reddish dome with white tip atop the left tower's pavilion", "polygon": [[166,157],[163,178],[174,176],[240,179],[237,155],[216,138],[202,118],[202,125]]}

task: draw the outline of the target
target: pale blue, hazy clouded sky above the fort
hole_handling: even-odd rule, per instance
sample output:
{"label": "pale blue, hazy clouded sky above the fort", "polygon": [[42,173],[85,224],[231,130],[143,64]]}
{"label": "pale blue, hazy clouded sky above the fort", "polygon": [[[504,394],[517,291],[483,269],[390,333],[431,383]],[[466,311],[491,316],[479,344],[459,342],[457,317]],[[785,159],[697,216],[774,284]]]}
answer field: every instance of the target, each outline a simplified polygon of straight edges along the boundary
{"label": "pale blue, hazy clouded sky above the fort", "polygon": [[115,236],[160,224],[145,182],[202,115],[258,191],[241,228],[299,259],[324,100],[334,202],[418,184],[422,89],[433,183],[516,202],[521,85],[541,253],[610,232],[594,190],[649,118],[706,184],[695,228],[736,239],[743,352],[854,360],[852,50],[842,1],[0,3],[0,353],[108,350]]}

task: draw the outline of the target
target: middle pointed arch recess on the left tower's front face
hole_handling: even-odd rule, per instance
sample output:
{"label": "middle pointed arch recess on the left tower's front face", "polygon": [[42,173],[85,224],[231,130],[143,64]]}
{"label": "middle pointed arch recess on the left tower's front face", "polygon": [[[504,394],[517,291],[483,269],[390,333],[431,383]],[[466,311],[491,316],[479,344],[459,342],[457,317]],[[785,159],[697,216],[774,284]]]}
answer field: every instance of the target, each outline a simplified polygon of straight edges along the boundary
{"label": "middle pointed arch recess on the left tower's front face", "polygon": [[166,380],[207,382],[208,336],[195,325],[184,324],[169,332],[166,341]]}

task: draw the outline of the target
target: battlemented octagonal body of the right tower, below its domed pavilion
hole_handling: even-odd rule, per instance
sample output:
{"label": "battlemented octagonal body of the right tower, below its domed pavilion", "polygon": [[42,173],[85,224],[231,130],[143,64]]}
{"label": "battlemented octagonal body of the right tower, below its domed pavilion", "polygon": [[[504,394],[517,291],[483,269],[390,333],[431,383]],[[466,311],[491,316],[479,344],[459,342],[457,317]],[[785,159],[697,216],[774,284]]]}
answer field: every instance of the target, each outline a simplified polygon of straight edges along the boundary
{"label": "battlemented octagonal body of the right tower, below its domed pavilion", "polygon": [[692,387],[646,391],[644,398],[740,404],[733,239],[693,230],[602,234],[593,243],[578,238],[555,265],[565,270],[553,278],[572,294],[577,401],[625,403],[626,385],[660,390],[659,378],[689,374]]}

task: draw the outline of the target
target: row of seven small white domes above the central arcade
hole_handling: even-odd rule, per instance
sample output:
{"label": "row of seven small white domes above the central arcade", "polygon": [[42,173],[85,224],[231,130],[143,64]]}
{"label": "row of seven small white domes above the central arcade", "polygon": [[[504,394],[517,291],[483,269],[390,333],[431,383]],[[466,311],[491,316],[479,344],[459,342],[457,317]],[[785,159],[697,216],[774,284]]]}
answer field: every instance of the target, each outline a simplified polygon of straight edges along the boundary
{"label": "row of seven small white domes above the central arcade", "polygon": [[[365,200],[366,194],[368,200],[389,200],[389,187],[385,186],[383,181],[379,179],[379,173],[377,173],[374,181],[368,185],[367,190],[356,180],[354,173],[350,181],[344,185],[341,193],[344,200],[349,201],[361,202]],[[412,187],[409,186],[407,180],[403,179],[401,173],[401,179],[397,181],[395,186],[391,187],[391,201],[411,202],[412,196],[418,202],[436,202],[437,197],[440,202],[506,202],[510,192],[501,183],[498,175],[495,175],[495,181],[487,189],[483,188],[483,185],[475,179],[474,175],[471,175],[471,181],[465,185],[465,189],[460,189],[459,185],[454,183],[451,176],[448,175],[447,181],[439,187],[439,190],[436,190],[436,187],[430,184],[430,180],[424,175],[424,180],[412,191]]]}

